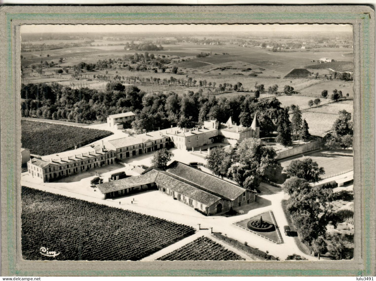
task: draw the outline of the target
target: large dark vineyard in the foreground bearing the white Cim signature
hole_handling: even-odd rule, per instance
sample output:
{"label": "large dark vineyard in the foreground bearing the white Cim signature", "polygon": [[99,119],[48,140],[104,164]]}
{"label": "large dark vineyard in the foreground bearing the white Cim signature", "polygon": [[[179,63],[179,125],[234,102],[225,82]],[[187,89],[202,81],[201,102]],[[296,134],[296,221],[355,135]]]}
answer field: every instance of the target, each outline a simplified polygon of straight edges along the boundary
{"label": "large dark vineyard in the foreground bearing the white Cim signature", "polygon": [[[140,260],[192,235],[193,227],[22,187],[25,260]],[[55,251],[44,256],[41,248]]]}

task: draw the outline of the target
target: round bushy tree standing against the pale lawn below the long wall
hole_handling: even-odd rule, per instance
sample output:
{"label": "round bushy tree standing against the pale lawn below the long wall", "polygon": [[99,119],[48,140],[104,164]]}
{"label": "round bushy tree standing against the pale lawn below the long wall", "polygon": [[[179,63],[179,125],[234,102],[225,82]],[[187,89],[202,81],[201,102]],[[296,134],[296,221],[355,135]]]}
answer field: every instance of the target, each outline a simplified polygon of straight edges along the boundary
{"label": "round bushy tree standing against the pale lawn below the long wall", "polygon": [[293,160],[286,169],[287,175],[292,177],[305,179],[306,181],[318,181],[320,175],[325,173],[323,167],[318,167],[317,162],[313,161],[312,158],[306,157],[303,160]]}

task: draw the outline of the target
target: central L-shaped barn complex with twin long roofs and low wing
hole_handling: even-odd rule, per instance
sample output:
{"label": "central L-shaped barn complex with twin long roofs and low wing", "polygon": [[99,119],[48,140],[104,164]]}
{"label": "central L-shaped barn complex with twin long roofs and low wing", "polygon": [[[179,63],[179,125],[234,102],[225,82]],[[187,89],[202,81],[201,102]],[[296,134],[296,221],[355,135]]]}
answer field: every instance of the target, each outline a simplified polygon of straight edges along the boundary
{"label": "central L-shaped barn complex with twin long roofs and low wing", "polygon": [[255,191],[178,161],[171,163],[165,171],[150,167],[139,176],[106,182],[96,188],[104,199],[155,188],[205,214],[229,211],[256,200]]}

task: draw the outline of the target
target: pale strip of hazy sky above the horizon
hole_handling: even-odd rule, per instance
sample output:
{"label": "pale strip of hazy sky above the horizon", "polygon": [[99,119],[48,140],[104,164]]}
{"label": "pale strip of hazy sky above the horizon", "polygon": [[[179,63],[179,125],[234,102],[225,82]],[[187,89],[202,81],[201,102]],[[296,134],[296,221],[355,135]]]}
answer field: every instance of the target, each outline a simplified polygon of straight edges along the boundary
{"label": "pale strip of hazy sky above the horizon", "polygon": [[22,25],[21,33],[59,32],[352,32],[350,24],[114,24],[114,25]]}

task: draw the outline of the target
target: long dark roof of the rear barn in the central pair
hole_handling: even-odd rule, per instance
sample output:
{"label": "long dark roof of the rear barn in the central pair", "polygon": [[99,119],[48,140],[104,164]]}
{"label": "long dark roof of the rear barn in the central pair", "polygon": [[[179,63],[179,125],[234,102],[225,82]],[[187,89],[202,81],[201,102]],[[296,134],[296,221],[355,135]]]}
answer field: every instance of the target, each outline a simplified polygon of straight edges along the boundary
{"label": "long dark roof of the rear barn in the central pair", "polygon": [[193,182],[199,185],[203,190],[218,194],[224,199],[235,200],[246,191],[243,187],[224,181],[216,176],[177,161],[174,161],[167,167],[167,172]]}

